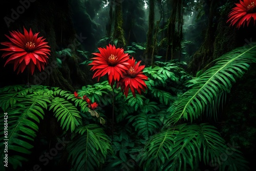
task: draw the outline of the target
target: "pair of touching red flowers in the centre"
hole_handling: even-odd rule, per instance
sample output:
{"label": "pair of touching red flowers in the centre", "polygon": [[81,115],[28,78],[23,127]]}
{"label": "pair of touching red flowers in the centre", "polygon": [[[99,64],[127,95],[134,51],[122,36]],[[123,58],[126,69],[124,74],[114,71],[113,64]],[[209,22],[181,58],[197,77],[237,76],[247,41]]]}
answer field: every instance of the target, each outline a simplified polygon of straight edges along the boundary
{"label": "pair of touching red flowers in the centre", "polygon": [[91,70],[95,71],[93,78],[99,78],[108,74],[108,80],[111,87],[117,83],[117,88],[121,88],[125,96],[131,89],[135,97],[135,90],[141,94],[141,90],[145,92],[147,80],[142,70],[145,66],[139,66],[140,62],[135,63],[135,59],[130,55],[123,52],[123,49],[117,48],[113,45],[106,46],[105,48],[98,48],[100,53],[93,53],[93,62],[89,65],[93,67]]}

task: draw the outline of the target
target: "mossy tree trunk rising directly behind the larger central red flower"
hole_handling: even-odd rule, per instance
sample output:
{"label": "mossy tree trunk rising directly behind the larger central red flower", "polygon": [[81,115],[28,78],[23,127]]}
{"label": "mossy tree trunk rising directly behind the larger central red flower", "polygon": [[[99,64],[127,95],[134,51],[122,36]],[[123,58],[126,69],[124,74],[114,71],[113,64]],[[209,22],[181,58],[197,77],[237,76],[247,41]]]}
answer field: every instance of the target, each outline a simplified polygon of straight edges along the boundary
{"label": "mossy tree trunk rising directly behind the larger central red flower", "polygon": [[115,28],[113,33],[113,40],[118,40],[117,47],[126,46],[123,31],[123,16],[122,16],[122,3],[115,4]]}

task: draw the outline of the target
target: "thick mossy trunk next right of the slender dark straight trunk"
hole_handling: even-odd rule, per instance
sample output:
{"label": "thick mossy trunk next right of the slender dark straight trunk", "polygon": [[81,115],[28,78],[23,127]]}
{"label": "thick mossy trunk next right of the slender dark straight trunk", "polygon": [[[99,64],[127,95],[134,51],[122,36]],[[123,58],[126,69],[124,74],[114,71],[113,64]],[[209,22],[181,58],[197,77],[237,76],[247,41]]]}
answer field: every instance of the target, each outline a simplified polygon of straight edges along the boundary
{"label": "thick mossy trunk next right of the slender dark straight trunk", "polygon": [[180,60],[183,26],[183,1],[174,0],[172,2],[173,9],[168,19],[167,25],[167,50],[165,55],[165,61],[169,59]]}

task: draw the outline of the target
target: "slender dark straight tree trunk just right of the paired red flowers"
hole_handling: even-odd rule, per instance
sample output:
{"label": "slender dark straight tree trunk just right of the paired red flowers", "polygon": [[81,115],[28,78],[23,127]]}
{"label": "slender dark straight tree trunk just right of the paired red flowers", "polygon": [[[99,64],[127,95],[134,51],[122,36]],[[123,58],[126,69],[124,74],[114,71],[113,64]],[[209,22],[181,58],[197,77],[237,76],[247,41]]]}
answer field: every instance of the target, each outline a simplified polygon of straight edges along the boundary
{"label": "slender dark straight tree trunk just right of the paired red flowers", "polygon": [[155,23],[155,2],[150,0],[150,13],[148,16],[148,31],[147,31],[147,45],[144,52],[145,64],[154,65],[154,51],[155,51],[155,37],[154,37],[154,23]]}

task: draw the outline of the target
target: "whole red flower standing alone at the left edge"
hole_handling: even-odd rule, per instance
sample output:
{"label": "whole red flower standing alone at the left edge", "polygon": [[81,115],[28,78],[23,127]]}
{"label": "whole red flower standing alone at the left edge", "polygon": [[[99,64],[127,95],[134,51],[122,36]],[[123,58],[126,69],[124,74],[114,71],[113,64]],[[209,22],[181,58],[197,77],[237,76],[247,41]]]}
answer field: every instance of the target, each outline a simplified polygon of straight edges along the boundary
{"label": "whole red flower standing alone at the left edge", "polygon": [[28,66],[31,74],[33,75],[35,66],[39,71],[45,69],[48,63],[48,56],[51,52],[50,48],[45,42],[45,38],[37,37],[39,33],[33,34],[31,29],[28,32],[24,28],[24,34],[19,31],[10,31],[11,37],[5,35],[10,39],[10,42],[1,42],[1,45],[8,46],[9,48],[0,49],[6,51],[2,57],[10,55],[7,59],[5,66],[8,63],[14,63],[14,71],[18,68],[18,72],[23,72]]}

